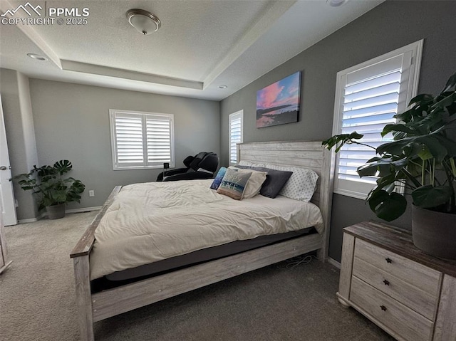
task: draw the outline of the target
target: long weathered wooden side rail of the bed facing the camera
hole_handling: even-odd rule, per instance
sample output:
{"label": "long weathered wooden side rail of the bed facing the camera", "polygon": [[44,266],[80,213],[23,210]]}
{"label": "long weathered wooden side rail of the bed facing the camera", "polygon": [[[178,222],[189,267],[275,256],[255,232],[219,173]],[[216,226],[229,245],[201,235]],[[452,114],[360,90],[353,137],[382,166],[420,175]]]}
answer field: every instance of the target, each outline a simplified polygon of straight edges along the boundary
{"label": "long weathered wooden side rail of the bed facing the camera", "polygon": [[92,295],[90,313],[94,322],[104,320],[320,247],[321,236],[310,234],[127,284],[123,288],[103,290]]}

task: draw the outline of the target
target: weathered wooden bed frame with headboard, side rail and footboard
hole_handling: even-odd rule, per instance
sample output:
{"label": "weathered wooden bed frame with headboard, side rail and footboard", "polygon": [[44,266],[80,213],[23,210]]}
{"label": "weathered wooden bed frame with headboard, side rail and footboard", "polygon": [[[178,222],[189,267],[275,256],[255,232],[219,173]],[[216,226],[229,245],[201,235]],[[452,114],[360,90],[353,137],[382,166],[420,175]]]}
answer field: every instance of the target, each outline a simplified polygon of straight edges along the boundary
{"label": "weathered wooden bed frame with headboard, side rail and footboard", "polygon": [[165,300],[204,285],[247,273],[270,264],[317,251],[321,261],[328,255],[329,224],[333,193],[334,155],[321,147],[321,142],[252,142],[238,145],[238,159],[254,163],[298,166],[318,173],[317,189],[312,202],[323,214],[323,234],[311,234],[190,266],[118,288],[90,292],[90,251],[95,241],[95,229],[120,191],[113,189],[102,209],[71,252],[76,280],[76,301],[81,340],[94,340],[93,322],[125,313],[160,300]]}

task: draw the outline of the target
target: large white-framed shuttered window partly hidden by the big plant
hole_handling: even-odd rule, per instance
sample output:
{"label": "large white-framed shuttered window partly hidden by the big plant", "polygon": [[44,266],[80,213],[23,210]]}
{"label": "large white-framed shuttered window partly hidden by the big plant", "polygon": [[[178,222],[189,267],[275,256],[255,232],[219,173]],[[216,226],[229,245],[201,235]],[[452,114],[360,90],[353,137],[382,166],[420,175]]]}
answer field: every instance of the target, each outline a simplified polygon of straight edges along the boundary
{"label": "large white-framed shuttered window partly hidden by the big plant", "polygon": [[[359,132],[372,147],[393,140],[380,132],[403,112],[418,90],[423,41],[337,73],[333,135]],[[336,155],[334,192],[366,199],[376,177],[359,177],[356,169],[375,157],[375,150],[346,145]]]}

